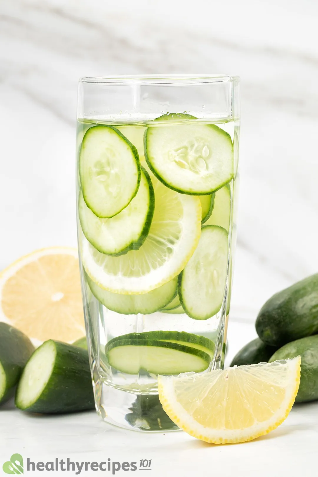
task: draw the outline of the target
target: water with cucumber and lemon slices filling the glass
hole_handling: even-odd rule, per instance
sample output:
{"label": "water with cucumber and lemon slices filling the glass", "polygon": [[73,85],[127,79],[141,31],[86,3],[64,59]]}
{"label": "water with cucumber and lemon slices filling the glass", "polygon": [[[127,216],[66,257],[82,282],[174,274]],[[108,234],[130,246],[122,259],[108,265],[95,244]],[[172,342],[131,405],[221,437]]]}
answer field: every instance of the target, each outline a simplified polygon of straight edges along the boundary
{"label": "water with cucumber and lemon slices filling the glass", "polygon": [[217,334],[231,280],[234,124],[169,113],[81,128],[79,249],[93,352],[104,383],[152,394],[158,373],[203,372],[214,359],[201,332]]}

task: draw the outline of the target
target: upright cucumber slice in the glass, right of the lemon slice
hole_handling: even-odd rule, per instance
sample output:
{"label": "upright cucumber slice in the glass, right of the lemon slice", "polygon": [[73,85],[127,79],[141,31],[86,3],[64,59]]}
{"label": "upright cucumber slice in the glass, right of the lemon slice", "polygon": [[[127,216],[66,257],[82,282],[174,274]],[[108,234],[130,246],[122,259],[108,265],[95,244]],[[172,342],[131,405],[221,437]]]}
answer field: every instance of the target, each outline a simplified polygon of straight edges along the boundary
{"label": "upright cucumber slice in the glass, right of the lemon slice", "polygon": [[220,311],[226,285],[228,236],[224,228],[205,226],[199,244],[179,275],[178,295],[185,313],[207,320]]}

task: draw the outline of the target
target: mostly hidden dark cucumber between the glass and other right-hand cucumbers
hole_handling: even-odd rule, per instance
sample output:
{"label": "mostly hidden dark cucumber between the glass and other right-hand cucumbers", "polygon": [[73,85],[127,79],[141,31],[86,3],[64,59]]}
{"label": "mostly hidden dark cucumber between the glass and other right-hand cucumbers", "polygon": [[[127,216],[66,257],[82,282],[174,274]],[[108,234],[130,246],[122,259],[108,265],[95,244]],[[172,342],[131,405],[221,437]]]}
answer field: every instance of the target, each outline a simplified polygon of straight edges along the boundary
{"label": "mostly hidden dark cucumber between the glass and other right-hand cucumbers", "polygon": [[245,366],[246,364],[267,363],[269,358],[277,351],[275,346],[268,346],[256,338],[247,343],[234,356],[230,366]]}

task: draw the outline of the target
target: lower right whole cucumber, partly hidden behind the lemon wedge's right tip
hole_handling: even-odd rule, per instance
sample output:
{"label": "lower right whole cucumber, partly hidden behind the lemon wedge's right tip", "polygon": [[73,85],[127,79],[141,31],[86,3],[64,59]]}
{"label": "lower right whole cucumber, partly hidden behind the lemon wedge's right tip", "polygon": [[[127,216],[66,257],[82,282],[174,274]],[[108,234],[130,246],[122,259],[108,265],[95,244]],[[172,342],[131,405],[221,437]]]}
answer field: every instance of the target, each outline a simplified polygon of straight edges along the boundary
{"label": "lower right whole cucumber, partly hidden behind the lemon wedge's right tip", "polygon": [[297,403],[318,399],[318,335],[308,336],[285,344],[270,358],[276,360],[301,357],[300,384],[296,396]]}

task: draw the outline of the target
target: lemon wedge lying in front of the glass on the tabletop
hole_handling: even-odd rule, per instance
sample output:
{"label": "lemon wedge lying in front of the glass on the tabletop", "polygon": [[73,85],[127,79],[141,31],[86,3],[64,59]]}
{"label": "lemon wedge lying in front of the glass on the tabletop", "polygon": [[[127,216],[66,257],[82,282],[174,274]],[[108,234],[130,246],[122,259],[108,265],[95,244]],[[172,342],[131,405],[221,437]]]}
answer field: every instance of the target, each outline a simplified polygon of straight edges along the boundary
{"label": "lemon wedge lying in front of the glass on the tabletop", "polygon": [[276,429],[294,404],[300,356],[204,374],[158,376],[159,399],[185,432],[214,444],[245,442]]}

